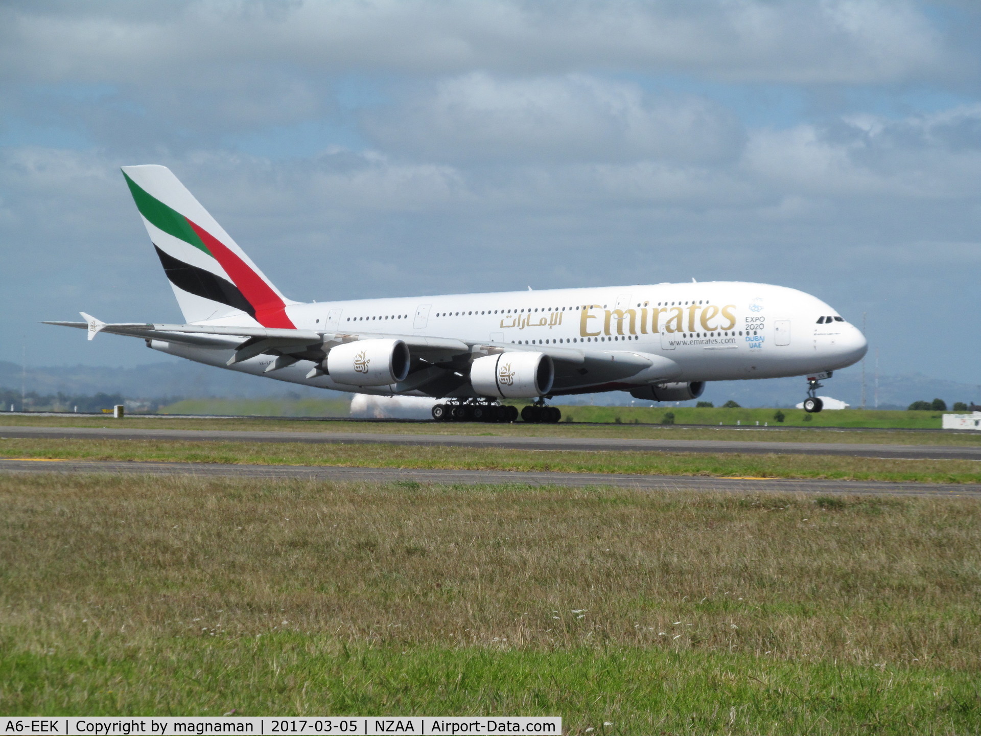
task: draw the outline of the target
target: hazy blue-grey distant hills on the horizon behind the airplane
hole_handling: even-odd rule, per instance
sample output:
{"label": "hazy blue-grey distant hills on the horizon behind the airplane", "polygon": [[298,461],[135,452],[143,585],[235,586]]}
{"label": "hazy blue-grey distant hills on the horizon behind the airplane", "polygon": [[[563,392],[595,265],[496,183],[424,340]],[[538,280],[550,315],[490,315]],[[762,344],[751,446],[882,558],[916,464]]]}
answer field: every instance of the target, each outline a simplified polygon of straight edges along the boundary
{"label": "hazy blue-grey distant hills on the horizon behind the airplane", "polygon": [[[0,361],[0,390],[21,390],[22,369],[16,363]],[[345,394],[284,384],[257,376],[232,373],[221,368],[190,361],[147,363],[133,368],[112,366],[28,366],[26,391],[38,394],[122,394],[128,399],[206,398],[211,396],[260,398],[332,398]],[[858,407],[861,403],[861,372],[857,366],[825,381],[821,394],[834,396]],[[743,406],[793,406],[805,394],[802,378],[764,381],[719,381],[709,383],[703,400],[716,406],[734,399]],[[866,405],[875,405],[874,379],[866,375]],[[911,402],[935,397],[948,405],[955,401],[981,403],[977,386],[943,381],[919,373],[879,377],[879,407],[905,408]],[[564,404],[616,405],[630,404],[631,396],[623,392],[585,394],[562,399]],[[633,401],[648,405],[648,401]]]}

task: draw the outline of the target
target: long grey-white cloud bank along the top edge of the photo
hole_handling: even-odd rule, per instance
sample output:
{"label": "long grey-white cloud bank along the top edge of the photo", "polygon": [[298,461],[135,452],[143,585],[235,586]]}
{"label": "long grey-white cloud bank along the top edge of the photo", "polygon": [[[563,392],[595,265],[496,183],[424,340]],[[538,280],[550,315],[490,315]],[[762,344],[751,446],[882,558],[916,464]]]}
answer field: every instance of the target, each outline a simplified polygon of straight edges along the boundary
{"label": "long grey-white cloud bank along the top edge of the photo", "polygon": [[213,87],[230,66],[248,76],[270,64],[314,75],[615,67],[793,83],[963,71],[908,0],[25,3],[8,5],[0,26],[5,74],[48,82],[177,75]]}

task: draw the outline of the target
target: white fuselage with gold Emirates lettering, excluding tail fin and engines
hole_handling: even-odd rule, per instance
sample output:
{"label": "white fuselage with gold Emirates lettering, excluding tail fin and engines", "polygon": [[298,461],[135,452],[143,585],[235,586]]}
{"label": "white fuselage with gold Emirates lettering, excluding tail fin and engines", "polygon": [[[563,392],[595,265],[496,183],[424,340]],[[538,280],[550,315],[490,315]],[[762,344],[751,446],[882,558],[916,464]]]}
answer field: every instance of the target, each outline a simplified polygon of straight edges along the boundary
{"label": "white fuselage with gold Emirates lettering, excluding tail fin and engines", "polygon": [[[286,312],[300,330],[661,355],[682,369],[673,380],[691,382],[832,371],[860,360],[867,346],[860,331],[820,299],[797,289],[741,282],[359,299],[292,304]],[[149,344],[221,367],[232,354],[169,342]],[[261,374],[271,361],[260,355],[234,364],[232,370]],[[337,384],[326,375],[308,378],[311,365],[300,361],[266,375],[337,391],[393,391]],[[552,394],[629,390],[633,385],[584,379]]]}

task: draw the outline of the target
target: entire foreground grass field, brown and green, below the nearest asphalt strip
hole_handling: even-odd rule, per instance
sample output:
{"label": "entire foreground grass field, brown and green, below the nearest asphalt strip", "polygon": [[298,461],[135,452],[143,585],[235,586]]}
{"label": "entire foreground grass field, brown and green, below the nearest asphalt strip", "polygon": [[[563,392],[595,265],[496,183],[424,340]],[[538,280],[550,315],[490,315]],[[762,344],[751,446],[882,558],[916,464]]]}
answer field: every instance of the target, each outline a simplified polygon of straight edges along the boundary
{"label": "entire foreground grass field, brown and green, below the nearest asphalt strip", "polygon": [[969,499],[31,475],[0,503],[3,713],[981,724]]}

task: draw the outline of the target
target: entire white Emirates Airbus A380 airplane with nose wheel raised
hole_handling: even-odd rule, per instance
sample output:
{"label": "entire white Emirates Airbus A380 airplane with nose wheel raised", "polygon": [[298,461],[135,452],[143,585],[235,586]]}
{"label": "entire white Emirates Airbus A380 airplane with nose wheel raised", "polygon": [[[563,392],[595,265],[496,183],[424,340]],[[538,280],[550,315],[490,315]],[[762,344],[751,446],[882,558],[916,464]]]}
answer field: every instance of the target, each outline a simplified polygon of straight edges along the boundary
{"label": "entire white Emirates Airbus A380 airplane with nose wheel raised", "polygon": [[862,334],[796,289],[706,282],[301,303],[284,297],[169,169],[123,174],[186,324],[49,322],[127,335],[242,373],[336,391],[448,399],[437,419],[513,421],[500,398],[626,391],[696,398],[706,381],[806,376],[865,354]]}

